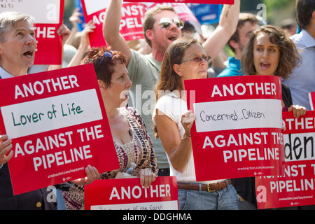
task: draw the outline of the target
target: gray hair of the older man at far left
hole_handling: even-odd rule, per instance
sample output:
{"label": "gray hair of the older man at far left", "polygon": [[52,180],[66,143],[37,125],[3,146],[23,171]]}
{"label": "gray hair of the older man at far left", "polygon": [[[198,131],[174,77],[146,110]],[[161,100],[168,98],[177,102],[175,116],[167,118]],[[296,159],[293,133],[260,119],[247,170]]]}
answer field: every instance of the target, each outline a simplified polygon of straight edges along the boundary
{"label": "gray hair of the older man at far left", "polygon": [[33,27],[34,18],[31,15],[17,12],[0,13],[0,42],[3,43],[5,34],[14,28],[18,22],[27,22],[29,26]]}

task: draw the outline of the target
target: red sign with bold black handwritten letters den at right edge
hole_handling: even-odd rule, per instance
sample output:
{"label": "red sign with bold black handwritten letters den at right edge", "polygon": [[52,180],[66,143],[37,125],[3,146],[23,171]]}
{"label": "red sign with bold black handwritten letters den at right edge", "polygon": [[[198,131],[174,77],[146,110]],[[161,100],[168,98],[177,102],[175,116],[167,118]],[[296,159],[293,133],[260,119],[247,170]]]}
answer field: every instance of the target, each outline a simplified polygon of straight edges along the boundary
{"label": "red sign with bold black handwritten letters den at right edge", "polygon": [[300,118],[283,112],[282,119],[284,172],[255,178],[258,209],[315,204],[315,111]]}

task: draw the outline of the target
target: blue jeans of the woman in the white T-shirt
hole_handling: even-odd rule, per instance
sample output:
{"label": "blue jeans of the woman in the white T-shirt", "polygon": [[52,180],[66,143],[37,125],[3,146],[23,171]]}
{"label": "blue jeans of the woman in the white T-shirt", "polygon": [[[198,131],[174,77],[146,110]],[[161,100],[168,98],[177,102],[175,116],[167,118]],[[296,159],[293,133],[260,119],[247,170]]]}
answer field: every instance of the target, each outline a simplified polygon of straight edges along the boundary
{"label": "blue jeans of the woman in the white T-shirt", "polygon": [[227,188],[214,192],[179,189],[179,209],[238,210],[239,197],[232,184],[228,185]]}

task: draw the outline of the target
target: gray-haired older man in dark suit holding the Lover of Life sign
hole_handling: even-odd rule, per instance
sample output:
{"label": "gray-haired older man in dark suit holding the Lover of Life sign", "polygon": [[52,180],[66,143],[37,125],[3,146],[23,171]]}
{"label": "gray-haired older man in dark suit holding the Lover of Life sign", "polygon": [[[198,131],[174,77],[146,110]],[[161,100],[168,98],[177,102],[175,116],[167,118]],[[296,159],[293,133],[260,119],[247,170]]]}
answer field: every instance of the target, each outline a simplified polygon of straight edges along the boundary
{"label": "gray-haired older man in dark suit holding the Lover of Life sign", "polygon": [[[65,25],[62,25],[57,29],[57,34],[62,35],[64,43],[69,37],[70,31]],[[24,76],[27,69],[34,64],[35,51],[36,39],[31,16],[16,12],[0,13],[0,79]],[[59,67],[61,68],[61,66]],[[55,66],[55,69],[58,67]],[[12,141],[8,135],[0,134],[0,210],[57,209],[57,202],[51,196],[52,188],[42,188],[13,195],[7,164],[13,158],[12,148]],[[85,179],[78,179],[73,182],[87,184],[99,177],[95,167],[88,166],[85,172],[87,174]],[[69,185],[66,183],[57,186],[61,190],[67,187]]]}

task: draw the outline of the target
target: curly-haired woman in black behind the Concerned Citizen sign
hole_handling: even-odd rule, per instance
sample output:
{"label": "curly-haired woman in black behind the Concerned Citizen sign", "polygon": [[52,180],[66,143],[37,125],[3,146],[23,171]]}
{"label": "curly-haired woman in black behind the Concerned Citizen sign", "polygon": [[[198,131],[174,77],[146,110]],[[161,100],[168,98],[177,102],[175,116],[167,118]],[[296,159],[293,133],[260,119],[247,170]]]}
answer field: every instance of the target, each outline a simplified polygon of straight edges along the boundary
{"label": "curly-haired woman in black behind the Concerned Citizen sign", "polygon": [[[265,25],[251,34],[248,45],[241,53],[241,68],[245,75],[280,76],[288,78],[301,61],[299,52],[286,32]],[[282,111],[293,111],[293,116],[306,113],[303,106],[293,105],[290,89],[282,84]],[[240,209],[257,209],[255,178],[232,179],[240,198]]]}

